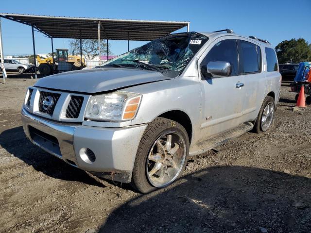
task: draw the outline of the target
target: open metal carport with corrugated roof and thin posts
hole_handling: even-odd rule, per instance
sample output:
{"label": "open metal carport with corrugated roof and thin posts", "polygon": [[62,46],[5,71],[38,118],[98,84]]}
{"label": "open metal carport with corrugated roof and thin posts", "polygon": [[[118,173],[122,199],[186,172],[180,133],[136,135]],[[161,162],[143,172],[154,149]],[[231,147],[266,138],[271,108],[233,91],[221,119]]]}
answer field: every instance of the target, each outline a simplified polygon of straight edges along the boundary
{"label": "open metal carport with corrugated roof and thin posts", "polygon": [[[151,21],[151,20],[127,20],[127,19],[107,19],[107,18],[84,18],[84,17],[55,17],[38,16],[23,14],[0,13],[0,19],[6,18],[18,23],[26,24],[32,27],[34,60],[35,60],[35,35],[34,30],[45,34],[51,38],[53,55],[53,38],[80,39],[80,54],[82,60],[82,39],[98,39],[98,53],[100,64],[100,43],[101,39],[107,40],[127,40],[129,50],[129,41],[150,41],[178,29],[187,27],[189,32],[190,22],[182,21]],[[3,82],[5,82],[6,72],[3,66],[3,46],[0,21],[0,50],[1,62],[3,68]],[[107,50],[108,51],[108,50]],[[107,54],[108,55],[108,54]],[[34,62],[35,63],[35,62]],[[35,68],[36,68],[36,64]],[[35,71],[36,78],[36,71]]]}

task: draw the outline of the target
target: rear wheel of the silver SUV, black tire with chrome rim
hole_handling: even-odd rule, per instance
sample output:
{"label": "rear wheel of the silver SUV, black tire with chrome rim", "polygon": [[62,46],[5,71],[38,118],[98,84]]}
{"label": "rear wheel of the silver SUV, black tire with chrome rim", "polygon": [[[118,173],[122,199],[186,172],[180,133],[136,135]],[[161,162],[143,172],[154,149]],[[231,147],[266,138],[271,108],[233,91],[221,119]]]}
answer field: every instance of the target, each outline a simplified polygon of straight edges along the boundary
{"label": "rear wheel of the silver SUV, black tire with chrome rim", "polygon": [[[269,115],[269,117],[266,117],[266,120],[267,120],[266,122],[267,123],[269,122],[269,123],[268,123],[268,125],[264,125],[264,122],[262,122],[262,120],[263,120],[263,115],[266,114],[266,113],[264,113],[264,110],[266,109],[266,107],[268,105],[269,105],[269,108],[270,108],[269,111],[271,110],[271,106],[272,106],[272,116]],[[257,119],[255,121],[254,132],[256,132],[256,133],[263,133],[263,132],[266,132],[269,129],[269,127],[271,126],[272,121],[273,121],[273,116],[274,116],[274,113],[275,113],[275,109],[276,109],[276,107],[275,107],[274,99],[271,96],[266,96],[266,98],[262,102],[259,114],[258,114]],[[270,117],[271,117],[271,120],[270,120]],[[268,121],[268,119],[269,119],[269,121]]]}

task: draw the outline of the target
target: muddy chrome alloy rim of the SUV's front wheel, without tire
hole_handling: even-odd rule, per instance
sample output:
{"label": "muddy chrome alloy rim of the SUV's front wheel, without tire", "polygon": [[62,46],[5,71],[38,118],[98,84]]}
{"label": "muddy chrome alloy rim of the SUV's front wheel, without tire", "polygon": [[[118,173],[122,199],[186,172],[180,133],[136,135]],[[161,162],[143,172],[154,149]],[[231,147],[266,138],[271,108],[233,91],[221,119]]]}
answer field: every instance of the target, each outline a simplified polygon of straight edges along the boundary
{"label": "muddy chrome alloy rim of the SUV's front wheel, without tire", "polygon": [[166,132],[158,137],[147,158],[149,182],[158,188],[172,183],[183,168],[186,152],[185,140],[179,132]]}

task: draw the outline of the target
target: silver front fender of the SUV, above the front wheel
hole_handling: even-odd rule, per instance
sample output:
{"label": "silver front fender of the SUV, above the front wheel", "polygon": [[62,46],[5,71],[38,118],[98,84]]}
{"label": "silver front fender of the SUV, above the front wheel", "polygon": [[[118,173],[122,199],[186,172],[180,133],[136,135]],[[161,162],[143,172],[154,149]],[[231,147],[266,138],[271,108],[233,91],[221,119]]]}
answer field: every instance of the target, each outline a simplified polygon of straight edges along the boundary
{"label": "silver front fender of the SUV, above the front wheel", "polygon": [[193,142],[201,118],[201,86],[197,76],[143,84],[124,91],[143,95],[133,125],[149,123],[163,113],[180,110],[191,120]]}

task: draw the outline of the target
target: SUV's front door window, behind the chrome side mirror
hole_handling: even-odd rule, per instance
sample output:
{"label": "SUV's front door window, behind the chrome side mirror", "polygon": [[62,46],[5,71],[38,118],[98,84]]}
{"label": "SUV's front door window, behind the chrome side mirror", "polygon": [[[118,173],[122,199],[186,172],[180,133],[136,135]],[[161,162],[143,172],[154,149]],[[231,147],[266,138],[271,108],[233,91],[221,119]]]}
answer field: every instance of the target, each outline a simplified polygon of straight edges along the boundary
{"label": "SUV's front door window, behind the chrome side mirror", "polygon": [[[238,74],[238,50],[236,40],[228,39],[218,42],[214,47],[209,50],[206,57],[200,64],[200,68],[205,66],[210,61],[222,61],[230,62],[231,64],[231,74],[229,76],[234,76]],[[210,77],[210,74],[203,74],[205,77]]]}

